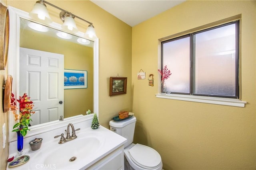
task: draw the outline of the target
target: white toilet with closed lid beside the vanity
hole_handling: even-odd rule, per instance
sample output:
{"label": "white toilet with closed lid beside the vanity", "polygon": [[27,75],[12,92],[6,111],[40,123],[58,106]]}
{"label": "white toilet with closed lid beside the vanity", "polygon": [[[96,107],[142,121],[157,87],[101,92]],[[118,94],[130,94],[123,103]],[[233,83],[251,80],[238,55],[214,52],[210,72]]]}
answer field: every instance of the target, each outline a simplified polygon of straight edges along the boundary
{"label": "white toilet with closed lid beside the vanity", "polygon": [[132,143],[135,123],[134,116],[122,121],[109,122],[111,131],[127,139],[124,144],[124,170],[162,170],[162,159],[156,150]]}

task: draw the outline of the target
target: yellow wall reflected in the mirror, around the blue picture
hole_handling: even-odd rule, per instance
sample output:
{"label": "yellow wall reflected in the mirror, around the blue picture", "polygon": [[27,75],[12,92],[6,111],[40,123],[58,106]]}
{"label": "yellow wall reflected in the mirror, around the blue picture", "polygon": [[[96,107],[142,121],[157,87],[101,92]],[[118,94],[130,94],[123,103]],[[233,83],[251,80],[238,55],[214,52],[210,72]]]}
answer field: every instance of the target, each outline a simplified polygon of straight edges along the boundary
{"label": "yellow wall reflected in the mirror, around the blue picture", "polygon": [[[93,111],[93,48],[27,29],[20,36],[20,47],[64,54],[64,69],[86,70],[87,88],[64,90],[64,118],[85,115],[88,109]],[[23,93],[25,92],[20,92]],[[83,107],[73,107],[76,105]]]}

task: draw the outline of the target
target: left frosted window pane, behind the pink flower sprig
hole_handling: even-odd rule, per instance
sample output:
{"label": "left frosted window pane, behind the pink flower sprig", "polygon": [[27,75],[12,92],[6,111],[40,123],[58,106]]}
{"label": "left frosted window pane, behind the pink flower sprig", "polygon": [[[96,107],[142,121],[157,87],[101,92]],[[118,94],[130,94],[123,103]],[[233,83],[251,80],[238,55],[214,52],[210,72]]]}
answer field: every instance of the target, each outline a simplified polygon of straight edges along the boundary
{"label": "left frosted window pane, behind the pink flower sprig", "polygon": [[190,93],[190,37],[164,42],[162,49],[163,67],[172,73],[166,91]]}

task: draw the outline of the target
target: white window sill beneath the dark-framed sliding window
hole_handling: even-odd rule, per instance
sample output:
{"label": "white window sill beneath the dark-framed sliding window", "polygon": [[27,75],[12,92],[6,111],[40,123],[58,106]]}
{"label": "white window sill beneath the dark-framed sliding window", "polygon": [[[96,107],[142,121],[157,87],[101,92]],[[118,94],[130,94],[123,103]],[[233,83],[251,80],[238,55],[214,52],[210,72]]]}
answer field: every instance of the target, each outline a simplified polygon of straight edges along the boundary
{"label": "white window sill beneath the dark-framed sliding window", "polygon": [[241,101],[239,99],[228,99],[228,98],[215,98],[206,96],[191,96],[182,94],[156,94],[157,98],[173,99],[173,100],[183,100],[189,102],[200,102],[208,104],[218,104],[225,106],[235,106],[244,107],[247,102]]}

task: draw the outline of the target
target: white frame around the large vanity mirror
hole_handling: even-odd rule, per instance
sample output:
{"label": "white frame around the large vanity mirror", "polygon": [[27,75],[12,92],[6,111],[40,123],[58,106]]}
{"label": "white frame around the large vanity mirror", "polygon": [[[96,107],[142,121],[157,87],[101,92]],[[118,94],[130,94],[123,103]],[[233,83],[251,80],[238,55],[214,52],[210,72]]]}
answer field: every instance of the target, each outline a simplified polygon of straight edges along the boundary
{"label": "white frame around the large vanity mirror", "polygon": [[[8,6],[9,9],[9,15],[10,15],[10,41],[9,41],[9,51],[8,51],[8,74],[12,75],[13,81],[12,81],[12,92],[15,94],[15,97],[18,98],[19,94],[19,56],[20,56],[20,18],[23,18],[25,20],[30,20],[36,23],[39,23],[37,21],[32,20],[28,12],[24,12],[22,10],[19,10],[17,8],[14,8],[12,6]],[[40,23],[42,24],[42,23]],[[42,24],[47,27],[52,27],[54,29],[58,29],[60,31],[64,31],[61,28],[61,25],[58,23],[51,23],[51,24]],[[67,31],[64,31],[67,32]],[[78,32],[78,33],[70,33],[72,35],[76,35],[78,37],[84,37],[84,33]],[[98,91],[99,91],[99,39],[98,38],[89,38],[85,37],[86,39],[90,41],[94,41],[94,47],[93,47],[93,105],[94,105],[94,113],[97,114],[99,117],[99,97],[98,97]],[[70,121],[72,119],[81,119],[81,116],[78,115],[74,117],[68,117],[65,118],[64,121],[52,121],[48,123],[43,123],[40,125],[35,125],[30,127],[30,131],[28,131],[28,134],[26,137],[30,137],[32,135],[40,134],[42,132],[45,132],[44,129],[46,127],[49,127],[51,125],[56,124],[63,124],[65,121]],[[86,117],[88,115],[84,115],[83,117]],[[91,117],[91,116],[90,116]],[[84,118],[83,118],[84,119]],[[86,118],[85,118],[86,119]],[[8,113],[8,129],[9,129],[9,142],[15,141],[16,139],[16,133],[12,133],[12,127],[14,125],[14,116],[11,111]]]}

